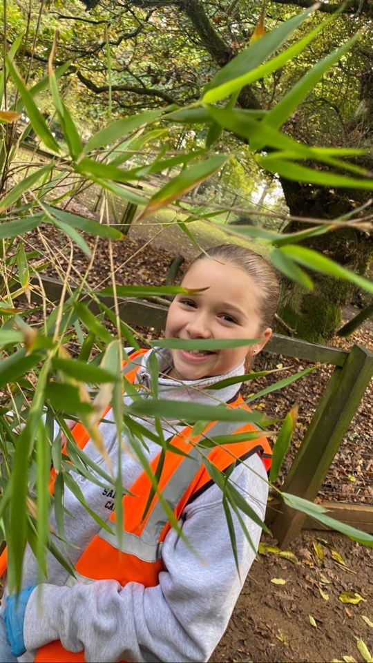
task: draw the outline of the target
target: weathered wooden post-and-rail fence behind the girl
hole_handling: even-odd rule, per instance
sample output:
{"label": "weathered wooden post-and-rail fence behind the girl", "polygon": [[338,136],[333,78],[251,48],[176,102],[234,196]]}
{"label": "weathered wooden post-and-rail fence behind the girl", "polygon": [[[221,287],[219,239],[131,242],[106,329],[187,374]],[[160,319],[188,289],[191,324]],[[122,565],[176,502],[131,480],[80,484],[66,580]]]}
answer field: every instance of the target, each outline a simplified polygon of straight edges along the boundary
{"label": "weathered wooden post-and-rail fence behind the girl", "polygon": [[[41,282],[48,300],[59,302],[62,283],[47,277],[43,277]],[[31,284],[32,300],[35,303],[40,303],[42,298],[39,283],[39,280],[33,280]],[[118,298],[118,300],[120,316],[124,322],[164,329],[167,314],[165,305],[132,298]],[[112,308],[114,305],[113,298],[105,297],[102,301],[108,307]],[[88,302],[88,305],[98,313],[99,307],[95,302]],[[287,474],[284,486],[286,492],[313,501],[372,378],[373,353],[361,345],[354,345],[348,352],[280,334],[274,334],[270,338],[266,352],[334,365],[334,371]],[[328,502],[327,508],[332,510],[333,517],[357,526],[360,524],[366,531],[373,532],[373,507],[341,506],[338,503]],[[309,527],[309,520],[307,521],[305,515],[290,510],[280,502],[275,505],[273,502],[269,503],[267,521],[271,523],[271,530],[282,546],[287,546],[300,528]]]}

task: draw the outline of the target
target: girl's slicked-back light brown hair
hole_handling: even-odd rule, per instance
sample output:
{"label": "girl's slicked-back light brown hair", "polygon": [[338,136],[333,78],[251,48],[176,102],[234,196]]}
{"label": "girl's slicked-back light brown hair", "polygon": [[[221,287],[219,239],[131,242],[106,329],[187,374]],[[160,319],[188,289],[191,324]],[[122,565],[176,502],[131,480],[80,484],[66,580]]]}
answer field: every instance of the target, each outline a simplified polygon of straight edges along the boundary
{"label": "girl's slicked-back light brown hair", "polygon": [[[220,244],[218,247],[207,249],[207,253],[209,258],[229,262],[242,269],[257,283],[260,291],[260,310],[258,311],[261,317],[260,331],[264,332],[267,327],[271,327],[280,298],[280,284],[274,267],[255,251],[240,247],[238,244]],[[200,253],[191,262],[185,274],[192,265],[195,265],[195,262],[206,257],[206,253]]]}

